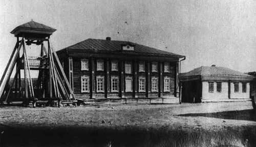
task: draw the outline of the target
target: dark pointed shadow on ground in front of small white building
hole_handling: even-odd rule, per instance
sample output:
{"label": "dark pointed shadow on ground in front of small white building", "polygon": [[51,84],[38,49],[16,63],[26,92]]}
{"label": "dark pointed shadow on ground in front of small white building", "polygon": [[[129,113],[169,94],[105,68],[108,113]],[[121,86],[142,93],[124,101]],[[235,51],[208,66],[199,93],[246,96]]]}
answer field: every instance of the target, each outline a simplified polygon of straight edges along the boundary
{"label": "dark pointed shadow on ground in front of small white building", "polygon": [[187,113],[187,114],[180,114],[177,116],[203,116],[203,117],[215,117],[218,119],[244,120],[244,121],[256,122],[256,111],[253,109],[223,111],[223,112],[214,112],[214,113]]}

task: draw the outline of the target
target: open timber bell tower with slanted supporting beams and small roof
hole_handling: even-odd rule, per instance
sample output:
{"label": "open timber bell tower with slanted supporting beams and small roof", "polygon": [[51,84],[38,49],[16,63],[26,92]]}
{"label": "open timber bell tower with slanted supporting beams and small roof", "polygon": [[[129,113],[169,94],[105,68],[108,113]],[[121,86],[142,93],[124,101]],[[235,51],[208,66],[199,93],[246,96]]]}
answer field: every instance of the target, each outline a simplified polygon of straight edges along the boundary
{"label": "open timber bell tower with slanted supporting beams and small roof", "polygon": [[[37,101],[57,101],[60,106],[63,101],[75,101],[58,56],[51,47],[50,36],[55,31],[52,27],[32,20],[11,32],[17,42],[0,80],[2,104],[22,101],[25,106],[32,102],[35,107]],[[40,46],[40,56],[28,56],[26,46],[31,44]],[[31,70],[39,71],[36,82],[32,80]],[[11,74],[14,78],[11,78]]]}

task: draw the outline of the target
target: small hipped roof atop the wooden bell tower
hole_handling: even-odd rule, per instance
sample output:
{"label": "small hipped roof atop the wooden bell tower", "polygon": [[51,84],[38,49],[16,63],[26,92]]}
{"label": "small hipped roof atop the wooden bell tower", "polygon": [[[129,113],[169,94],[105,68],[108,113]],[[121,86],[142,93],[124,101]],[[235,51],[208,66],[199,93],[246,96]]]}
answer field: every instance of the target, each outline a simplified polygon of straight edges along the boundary
{"label": "small hipped roof atop the wooden bell tower", "polygon": [[21,36],[22,33],[37,33],[51,35],[55,31],[55,28],[31,20],[27,23],[15,27],[12,30],[11,34],[14,34],[15,36]]}

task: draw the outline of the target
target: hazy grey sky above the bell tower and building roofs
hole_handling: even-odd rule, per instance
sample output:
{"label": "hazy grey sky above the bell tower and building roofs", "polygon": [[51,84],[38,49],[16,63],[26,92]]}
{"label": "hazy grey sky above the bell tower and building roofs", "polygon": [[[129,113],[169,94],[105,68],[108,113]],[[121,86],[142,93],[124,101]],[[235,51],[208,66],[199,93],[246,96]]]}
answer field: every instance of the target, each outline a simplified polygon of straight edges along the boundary
{"label": "hazy grey sky above the bell tower and building roofs", "polygon": [[256,71],[255,0],[1,0],[0,17],[1,76],[16,42],[10,32],[31,19],[57,29],[55,50],[110,36],[185,55],[182,72],[213,64]]}

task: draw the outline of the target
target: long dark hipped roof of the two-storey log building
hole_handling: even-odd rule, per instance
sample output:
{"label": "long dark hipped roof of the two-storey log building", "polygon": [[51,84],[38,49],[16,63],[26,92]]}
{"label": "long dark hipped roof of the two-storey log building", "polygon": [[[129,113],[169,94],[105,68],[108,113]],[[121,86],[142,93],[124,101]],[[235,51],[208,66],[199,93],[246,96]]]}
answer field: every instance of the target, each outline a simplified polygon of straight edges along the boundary
{"label": "long dark hipped roof of the two-storey log building", "polygon": [[176,58],[184,57],[183,55],[175,54],[172,52],[167,52],[159,49],[155,49],[152,47],[140,45],[133,42],[127,41],[117,41],[117,40],[102,40],[102,39],[87,39],[66,47],[65,49],[79,49],[79,50],[89,50],[89,51],[121,51],[122,45],[130,44],[135,46],[134,53],[146,53],[146,54],[161,54],[161,55],[168,55]]}

